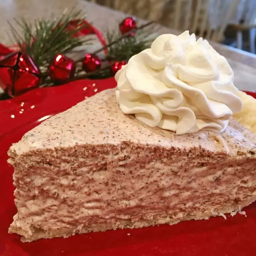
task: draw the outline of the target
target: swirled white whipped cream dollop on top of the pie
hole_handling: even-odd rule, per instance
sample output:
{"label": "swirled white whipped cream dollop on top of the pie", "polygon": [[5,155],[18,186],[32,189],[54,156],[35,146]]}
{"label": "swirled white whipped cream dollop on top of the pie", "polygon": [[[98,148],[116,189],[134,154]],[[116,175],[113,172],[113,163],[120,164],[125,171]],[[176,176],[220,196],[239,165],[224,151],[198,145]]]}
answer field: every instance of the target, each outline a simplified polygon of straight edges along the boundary
{"label": "swirled white whipped cream dollop on top of the pie", "polygon": [[162,34],[115,76],[121,110],[176,134],[222,132],[242,109],[228,61],[188,31]]}

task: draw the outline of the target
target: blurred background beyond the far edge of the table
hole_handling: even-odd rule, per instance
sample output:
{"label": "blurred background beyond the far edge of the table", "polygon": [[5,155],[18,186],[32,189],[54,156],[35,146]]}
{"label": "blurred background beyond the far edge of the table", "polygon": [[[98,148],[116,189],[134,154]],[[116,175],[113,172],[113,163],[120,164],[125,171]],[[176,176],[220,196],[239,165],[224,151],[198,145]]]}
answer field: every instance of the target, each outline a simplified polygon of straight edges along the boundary
{"label": "blurred background beyond the far edge of the table", "polygon": [[256,53],[256,0],[87,0]]}

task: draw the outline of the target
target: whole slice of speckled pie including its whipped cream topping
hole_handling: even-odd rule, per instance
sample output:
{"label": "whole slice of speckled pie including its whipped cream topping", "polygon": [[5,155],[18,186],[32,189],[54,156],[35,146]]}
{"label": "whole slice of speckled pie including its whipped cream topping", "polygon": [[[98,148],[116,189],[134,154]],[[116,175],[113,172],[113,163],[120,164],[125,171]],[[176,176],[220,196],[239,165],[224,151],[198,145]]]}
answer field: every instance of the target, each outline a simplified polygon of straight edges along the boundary
{"label": "whole slice of speckled pie including its whipped cream topping", "polygon": [[23,241],[208,219],[255,201],[256,135],[236,121],[255,100],[207,41],[162,35],[116,80],[11,146],[9,232]]}

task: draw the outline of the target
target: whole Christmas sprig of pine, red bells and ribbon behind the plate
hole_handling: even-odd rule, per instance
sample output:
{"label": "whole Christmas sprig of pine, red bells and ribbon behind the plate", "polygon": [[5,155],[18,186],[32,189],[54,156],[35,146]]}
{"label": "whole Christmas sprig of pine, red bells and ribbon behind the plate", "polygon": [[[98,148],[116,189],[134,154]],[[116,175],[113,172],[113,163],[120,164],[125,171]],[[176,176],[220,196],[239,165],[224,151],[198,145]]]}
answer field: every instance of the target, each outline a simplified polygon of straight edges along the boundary
{"label": "whole Christmas sprig of pine, red bells and ribbon behind the plate", "polygon": [[[129,60],[134,54],[148,48],[153,39],[149,39],[153,30],[149,26],[154,25],[154,22],[137,27],[131,17],[119,24],[119,30],[107,31],[106,39],[80,16],[80,11],[65,13],[55,20],[39,19],[34,24],[25,19],[15,21],[22,30],[22,34],[19,34],[10,25],[16,45],[10,48],[0,44],[0,86],[4,89],[4,94],[0,91],[0,100],[8,98],[8,95],[20,95],[38,86],[53,86],[84,78],[109,78],[126,64],[124,60]],[[146,27],[149,28],[148,31]],[[92,34],[97,36],[102,48],[86,55],[83,53],[83,58],[75,61],[69,58],[70,51],[86,49]],[[78,50],[78,46],[83,48]],[[13,53],[17,49],[19,52]],[[105,54],[102,59],[98,57],[100,52]],[[14,55],[7,55],[8,53]],[[23,55],[26,65],[21,66],[23,62],[19,58]],[[12,61],[15,56],[19,57],[18,64]]]}

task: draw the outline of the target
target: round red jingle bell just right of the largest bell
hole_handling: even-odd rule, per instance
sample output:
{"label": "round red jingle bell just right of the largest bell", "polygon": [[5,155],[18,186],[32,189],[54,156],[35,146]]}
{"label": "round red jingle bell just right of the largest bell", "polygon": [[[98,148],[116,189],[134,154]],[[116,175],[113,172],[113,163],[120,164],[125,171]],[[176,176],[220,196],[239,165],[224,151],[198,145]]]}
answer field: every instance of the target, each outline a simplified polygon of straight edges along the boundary
{"label": "round red jingle bell just right of the largest bell", "polygon": [[55,84],[63,84],[74,78],[75,69],[74,60],[57,54],[49,66],[49,76]]}

